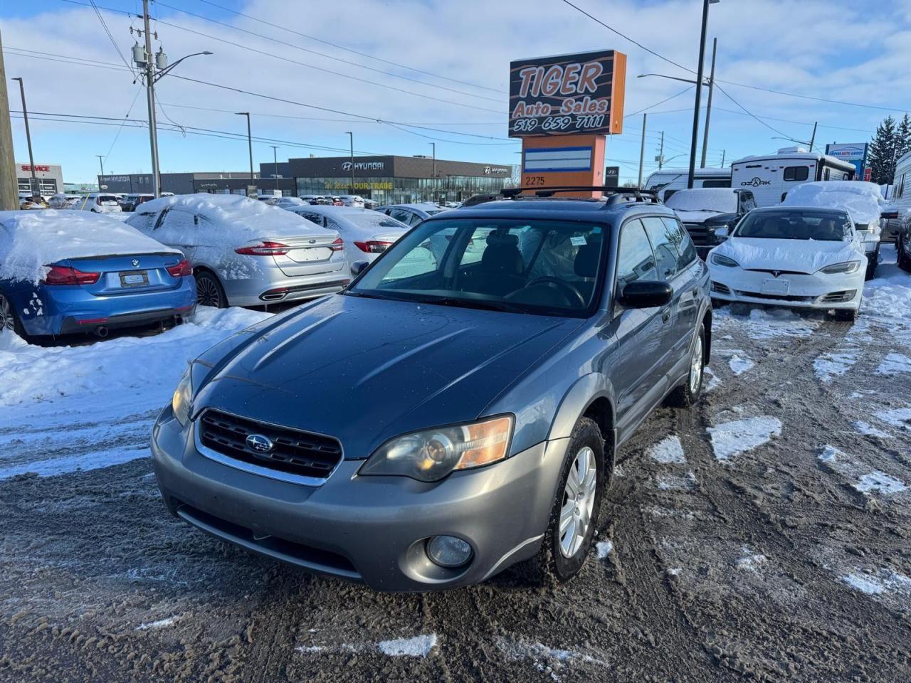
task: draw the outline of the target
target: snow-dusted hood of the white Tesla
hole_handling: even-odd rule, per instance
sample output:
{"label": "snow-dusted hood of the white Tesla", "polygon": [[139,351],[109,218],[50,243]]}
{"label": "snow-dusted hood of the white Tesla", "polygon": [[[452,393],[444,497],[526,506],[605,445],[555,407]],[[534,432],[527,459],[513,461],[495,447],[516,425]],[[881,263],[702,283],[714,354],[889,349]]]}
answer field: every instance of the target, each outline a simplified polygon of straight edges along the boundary
{"label": "snow-dusted hood of the white Tesla", "polygon": [[[714,249],[744,270],[792,270],[814,273],[833,263],[858,260],[862,253],[854,242],[822,240],[762,240],[732,237]],[[718,268],[711,264],[711,268]],[[723,267],[722,267],[723,268]]]}

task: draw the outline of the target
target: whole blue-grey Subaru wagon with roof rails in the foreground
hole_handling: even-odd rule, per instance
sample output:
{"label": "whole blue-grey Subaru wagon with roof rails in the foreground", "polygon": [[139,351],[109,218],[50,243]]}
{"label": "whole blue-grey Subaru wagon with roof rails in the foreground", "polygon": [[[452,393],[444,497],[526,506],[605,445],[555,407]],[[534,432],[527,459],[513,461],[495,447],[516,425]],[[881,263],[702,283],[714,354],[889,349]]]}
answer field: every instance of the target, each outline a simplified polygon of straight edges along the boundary
{"label": "whole blue-grey Subaru wagon with roof rails in the foreground", "polygon": [[439,214],[203,353],[152,433],[169,510],[379,590],[576,575],[619,447],[698,399],[711,345],[680,221],[606,194]]}

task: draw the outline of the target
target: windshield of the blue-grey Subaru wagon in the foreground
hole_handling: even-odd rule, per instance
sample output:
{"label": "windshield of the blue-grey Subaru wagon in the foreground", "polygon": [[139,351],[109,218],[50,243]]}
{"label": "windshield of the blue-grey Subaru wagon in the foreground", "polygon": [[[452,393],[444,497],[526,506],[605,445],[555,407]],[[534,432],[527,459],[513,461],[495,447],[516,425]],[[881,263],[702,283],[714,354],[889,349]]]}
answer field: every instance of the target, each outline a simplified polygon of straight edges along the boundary
{"label": "windshield of the blue-grey Subaru wagon in the foreground", "polygon": [[346,292],[495,311],[589,314],[602,228],[557,220],[428,220]]}

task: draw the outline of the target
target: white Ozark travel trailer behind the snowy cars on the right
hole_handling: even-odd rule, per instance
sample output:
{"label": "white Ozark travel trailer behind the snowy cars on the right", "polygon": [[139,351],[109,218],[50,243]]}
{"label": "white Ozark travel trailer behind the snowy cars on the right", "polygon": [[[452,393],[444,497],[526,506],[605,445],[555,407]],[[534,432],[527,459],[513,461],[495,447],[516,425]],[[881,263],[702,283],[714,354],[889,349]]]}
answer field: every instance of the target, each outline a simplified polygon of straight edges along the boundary
{"label": "white Ozark travel trailer behind the snowy cars on the right", "polygon": [[783,148],[776,154],[738,159],[731,171],[731,187],[752,189],[761,207],[781,204],[788,190],[806,182],[853,180],[855,176],[854,164],[804,148]]}

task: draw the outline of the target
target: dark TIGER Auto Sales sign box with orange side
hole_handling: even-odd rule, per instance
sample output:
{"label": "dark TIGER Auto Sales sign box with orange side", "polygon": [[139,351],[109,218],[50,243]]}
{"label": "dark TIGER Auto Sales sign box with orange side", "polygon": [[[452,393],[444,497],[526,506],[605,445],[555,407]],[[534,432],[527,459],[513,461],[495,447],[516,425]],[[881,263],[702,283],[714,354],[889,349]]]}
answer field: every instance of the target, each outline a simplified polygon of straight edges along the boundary
{"label": "dark TIGER Auto Sales sign box with orange side", "polygon": [[623,132],[626,55],[599,50],[509,65],[509,136]]}

